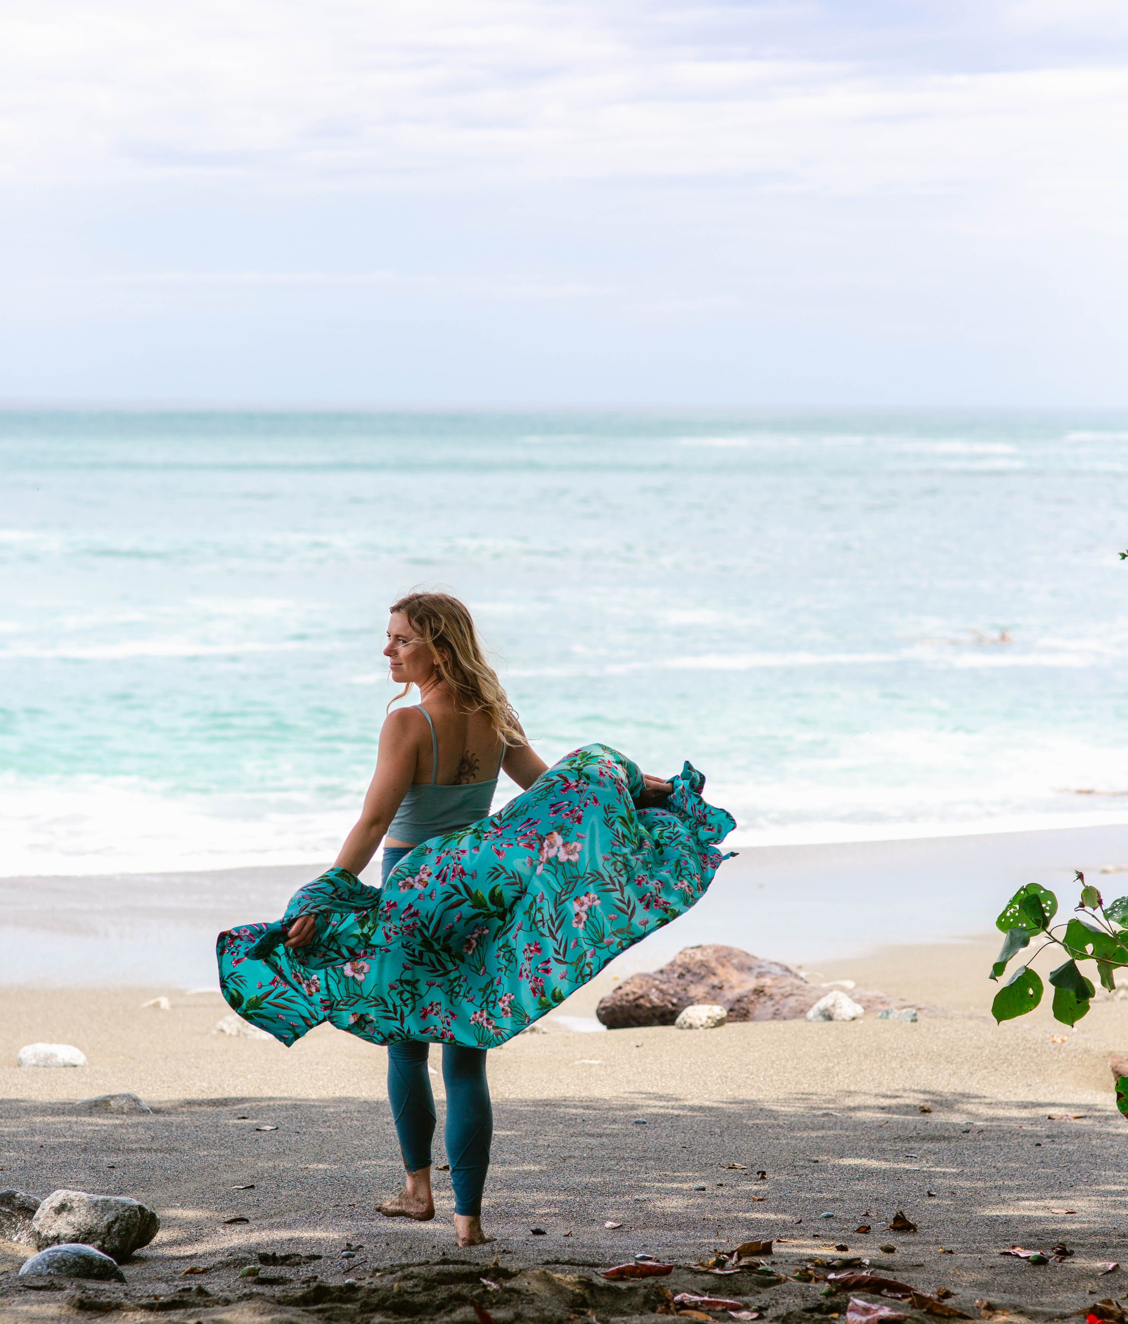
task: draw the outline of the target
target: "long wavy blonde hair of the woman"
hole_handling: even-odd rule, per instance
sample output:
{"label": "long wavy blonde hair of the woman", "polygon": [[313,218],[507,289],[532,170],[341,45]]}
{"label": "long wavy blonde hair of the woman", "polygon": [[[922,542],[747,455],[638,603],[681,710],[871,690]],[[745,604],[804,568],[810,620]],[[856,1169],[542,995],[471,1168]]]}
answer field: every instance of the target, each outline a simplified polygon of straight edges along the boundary
{"label": "long wavy blonde hair of the woman", "polygon": [[[506,744],[527,744],[502,682],[482,653],[474,617],[465,604],[450,593],[420,592],[408,593],[388,610],[406,616],[408,624],[430,649],[440,677],[466,712],[485,712]],[[405,685],[388,707],[399,703],[409,690]]]}

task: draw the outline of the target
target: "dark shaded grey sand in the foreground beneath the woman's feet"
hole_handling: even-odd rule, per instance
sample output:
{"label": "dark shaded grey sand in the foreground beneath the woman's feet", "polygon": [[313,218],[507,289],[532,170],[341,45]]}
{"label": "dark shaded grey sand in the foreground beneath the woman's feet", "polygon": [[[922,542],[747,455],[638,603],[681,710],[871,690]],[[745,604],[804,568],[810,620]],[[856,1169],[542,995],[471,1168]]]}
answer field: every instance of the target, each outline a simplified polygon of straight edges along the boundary
{"label": "dark shaded grey sand in the foreground beneath the woman's feet", "polygon": [[[16,1271],[28,1251],[0,1243],[0,1319],[134,1324],[172,1312],[185,1324],[474,1324],[475,1304],[496,1324],[643,1319],[669,1315],[667,1290],[735,1296],[792,1324],[845,1317],[846,1299],[823,1296],[818,1282],[760,1288],[744,1274],[688,1267],[641,1284],[597,1276],[638,1251],[687,1266],[772,1235],[772,1263],[788,1278],[814,1255],[834,1255],[838,1242],[870,1256],[874,1271],[928,1292],[952,1288],[949,1304],[976,1319],[984,1309],[1057,1319],[1128,1292],[1124,1271],[1098,1276],[1103,1263],[1128,1259],[1120,1176],[1128,1131],[1115,1111],[1062,1106],[1088,1116],[1050,1121],[1047,1111],[1058,1110],[1045,1102],[1004,1106],[959,1092],[937,1094],[929,1106],[925,1115],[904,1102],[839,1099],[831,1110],[816,1096],[788,1107],[691,1104],[663,1102],[661,1082],[645,1104],[626,1107],[621,1099],[500,1102],[485,1213],[498,1242],[465,1251],[453,1241],[446,1173],[437,1174],[432,1223],[373,1215],[400,1176],[383,1100],[207,1100],[126,1117],[7,1100],[0,1185],[38,1197],[61,1186],[128,1194],[155,1207],[163,1226],[123,1266],[124,1287],[24,1288]],[[254,1129],[265,1123],[278,1129]],[[768,1178],[757,1180],[756,1169]],[[252,1182],[253,1190],[233,1189]],[[704,1192],[692,1189],[699,1184]],[[886,1230],[898,1207],[919,1223],[916,1234]],[[248,1222],[225,1223],[233,1217]],[[608,1219],[622,1227],[605,1229]],[[857,1234],[861,1222],[872,1233]],[[997,1254],[1015,1242],[1049,1250],[1060,1241],[1075,1253],[1063,1263]],[[360,1247],[355,1259],[340,1258],[347,1243]],[[896,1251],[883,1254],[880,1245]],[[266,1264],[257,1283],[240,1278],[263,1253],[320,1258]],[[205,1272],[185,1274],[189,1267]]]}

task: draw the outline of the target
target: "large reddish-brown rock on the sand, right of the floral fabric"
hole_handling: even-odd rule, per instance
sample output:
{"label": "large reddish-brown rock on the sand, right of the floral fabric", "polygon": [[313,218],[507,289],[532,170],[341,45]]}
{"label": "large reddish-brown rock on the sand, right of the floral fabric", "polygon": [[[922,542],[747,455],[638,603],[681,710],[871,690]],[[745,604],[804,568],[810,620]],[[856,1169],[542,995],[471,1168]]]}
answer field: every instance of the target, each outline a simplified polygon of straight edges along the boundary
{"label": "large reddish-brown rock on the sand, right of the floral fabric", "polygon": [[[686,947],[661,970],[632,974],[596,1008],[609,1030],[643,1025],[673,1025],[687,1006],[719,1004],[733,1021],[801,1021],[826,988],[808,984],[798,970],[765,961],[739,947],[708,943]],[[907,1006],[884,993],[851,990],[867,1012]],[[921,1008],[925,1014],[932,1009]]]}

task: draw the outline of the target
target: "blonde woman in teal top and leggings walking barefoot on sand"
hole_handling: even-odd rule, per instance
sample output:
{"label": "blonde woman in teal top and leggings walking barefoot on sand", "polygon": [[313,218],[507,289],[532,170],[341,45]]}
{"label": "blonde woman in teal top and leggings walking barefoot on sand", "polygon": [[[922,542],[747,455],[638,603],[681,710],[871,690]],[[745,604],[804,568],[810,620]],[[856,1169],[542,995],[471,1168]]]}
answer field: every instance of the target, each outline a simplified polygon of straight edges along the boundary
{"label": "blonde woman in teal top and leggings walking barefoot on sand", "polygon": [[[522,789],[547,771],[485,661],[463,604],[446,593],[410,593],[391,612],[384,655],[392,679],[404,687],[396,698],[414,685],[422,702],[388,715],[364,808],[334,865],[357,875],[383,841],[385,883],[421,842],[485,818],[502,768]],[[645,782],[639,804],[657,805],[671,790],[658,777],[646,776]],[[285,945],[293,952],[308,947],[314,932],[314,915],[302,915],[289,925]],[[481,1221],[493,1136],[486,1051],[442,1046],[445,1141],[459,1246],[491,1239]],[[430,1144],[436,1113],[428,1054],[429,1045],[418,1039],[388,1045],[388,1098],[406,1169],[404,1190],[379,1206],[388,1218],[434,1217]]]}

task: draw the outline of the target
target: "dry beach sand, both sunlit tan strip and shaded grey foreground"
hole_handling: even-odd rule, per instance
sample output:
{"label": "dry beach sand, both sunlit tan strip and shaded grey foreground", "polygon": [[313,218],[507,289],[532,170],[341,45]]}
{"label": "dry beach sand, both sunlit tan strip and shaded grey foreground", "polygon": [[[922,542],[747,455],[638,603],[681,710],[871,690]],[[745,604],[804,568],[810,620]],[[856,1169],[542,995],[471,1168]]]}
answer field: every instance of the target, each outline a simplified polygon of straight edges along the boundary
{"label": "dry beach sand, both sunlit tan strip and shaded grey foreground", "polygon": [[[949,1303],[972,1317],[998,1313],[977,1300],[1009,1319],[1050,1319],[1120,1296],[1124,1271],[1098,1272],[1128,1259],[1125,1123],[1108,1070],[1112,1053],[1128,1047],[1128,1002],[1095,1005],[1072,1033],[1045,1009],[996,1027],[984,1013],[997,945],[894,948],[809,972],[812,981],[853,978],[960,1013],[917,1023],[867,1017],[583,1034],[549,1018],[548,1033],[491,1054],[496,1132],[483,1221],[499,1239],[474,1251],[454,1246],[446,1173],[437,1174],[433,1222],[373,1213],[400,1174],[381,1050],[327,1027],[291,1050],[212,1034],[226,1012],[218,996],[171,986],[7,989],[0,1185],[38,1197],[61,1186],[130,1194],[155,1207],[163,1226],[124,1266],[124,1288],[24,1290],[15,1271],[26,1251],[3,1247],[0,1319],[101,1311],[136,1321],[175,1309],[175,1319],[230,1324],[408,1316],[470,1324],[475,1304],[498,1324],[588,1311],[646,1317],[669,1309],[665,1299],[600,1286],[600,1266],[641,1251],[687,1266],[767,1237],[788,1279],[845,1245],[842,1254],[866,1255],[921,1290],[952,1288]],[[613,982],[601,976],[561,1014],[589,1017]],[[171,1010],[140,1006],[158,994]],[[89,1066],[17,1068],[16,1050],[38,1039],[77,1045]],[[441,1100],[441,1078],[433,1079]],[[140,1095],[154,1113],[74,1108],[115,1091]],[[445,1161],[441,1135],[436,1161]],[[917,1233],[887,1230],[898,1209]],[[855,1233],[863,1223],[872,1231]],[[1049,1250],[1060,1241],[1075,1253],[1062,1263],[997,1254],[1015,1242]],[[363,1247],[355,1259],[340,1258],[346,1243]],[[320,1259],[262,1268],[286,1282],[240,1278],[259,1254]],[[496,1267],[486,1267],[495,1256]],[[434,1267],[442,1260],[445,1268]],[[428,1263],[402,1267],[412,1262]],[[207,1272],[184,1275],[193,1266]],[[820,1295],[820,1282],[760,1288],[748,1275],[687,1267],[657,1282],[719,1291],[772,1320],[845,1308],[845,1299]]]}

